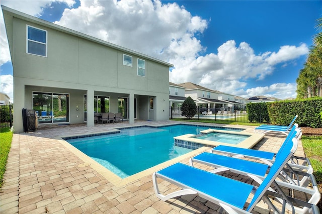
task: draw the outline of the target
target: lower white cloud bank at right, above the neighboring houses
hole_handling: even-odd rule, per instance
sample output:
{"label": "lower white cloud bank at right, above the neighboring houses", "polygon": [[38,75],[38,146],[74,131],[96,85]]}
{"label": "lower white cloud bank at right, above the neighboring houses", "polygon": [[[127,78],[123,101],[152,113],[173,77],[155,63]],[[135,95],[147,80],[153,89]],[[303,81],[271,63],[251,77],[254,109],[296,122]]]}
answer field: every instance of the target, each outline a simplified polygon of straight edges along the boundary
{"label": "lower white cloud bank at right, above the neighboring houses", "polygon": [[264,79],[274,71],[274,66],[278,63],[287,63],[307,53],[307,46],[301,44],[298,47],[282,46],[277,53],[265,52],[256,55],[248,43],[241,42],[237,47],[235,41],[230,40],[218,48],[218,54],[199,56],[186,65],[176,63],[175,69],[170,73],[170,81],[177,83],[190,81],[210,89],[245,97],[268,94],[274,89],[279,91],[273,93],[279,98],[295,97],[296,84],[276,83],[245,90],[247,87],[245,81]]}

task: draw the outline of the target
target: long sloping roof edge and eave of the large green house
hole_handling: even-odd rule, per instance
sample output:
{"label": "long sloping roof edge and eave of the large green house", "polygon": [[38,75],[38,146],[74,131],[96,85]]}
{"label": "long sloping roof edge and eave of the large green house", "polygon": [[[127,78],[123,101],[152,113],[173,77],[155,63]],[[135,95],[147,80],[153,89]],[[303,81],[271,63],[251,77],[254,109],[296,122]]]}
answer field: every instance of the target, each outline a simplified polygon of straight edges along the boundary
{"label": "long sloping roof edge and eave of the large green house", "polygon": [[[28,22],[35,23],[35,24],[40,25],[40,26],[44,26],[46,28],[54,29],[56,31],[60,31],[60,32],[69,34],[69,35],[72,35],[72,36],[76,36],[76,37],[79,37],[79,38],[90,40],[92,42],[95,42],[95,43],[98,43],[100,45],[104,45],[104,46],[107,46],[107,47],[110,47],[110,48],[113,48],[113,49],[116,49],[116,50],[124,51],[126,53],[130,53],[130,54],[137,55],[137,56],[140,56],[140,57],[144,57],[146,59],[149,59],[151,61],[154,61],[154,62],[157,62],[157,63],[160,63],[160,64],[164,64],[164,65],[169,66],[169,67],[174,66],[171,63],[168,63],[168,62],[156,59],[154,57],[151,57],[151,56],[148,56],[148,55],[145,55],[145,54],[142,54],[142,53],[139,53],[139,52],[136,52],[136,51],[133,51],[133,50],[130,50],[130,49],[127,49],[127,48],[124,48],[124,47],[109,43],[109,42],[106,42],[104,40],[100,40],[98,38],[95,38],[95,37],[92,37],[92,36],[89,36],[89,35],[86,35],[86,34],[83,34],[83,33],[80,33],[80,32],[65,28],[65,27],[62,27],[62,26],[59,26],[57,24],[53,24],[51,22],[47,22],[45,20],[30,16],[30,15],[22,13],[20,11],[16,11],[16,10],[8,8],[6,6],[2,5],[1,7],[2,7],[2,10],[3,10],[3,14],[4,14],[4,20],[5,20],[5,26],[6,26],[7,35],[8,35],[9,46],[13,45],[12,41],[11,41],[12,40],[11,38],[13,36],[12,35],[13,34],[13,32],[12,32],[13,31],[12,22],[13,22],[13,18],[15,17],[15,18],[18,18],[18,19],[22,19],[22,20],[25,20],[25,21],[28,21]],[[10,47],[10,49],[12,50],[12,47]]]}

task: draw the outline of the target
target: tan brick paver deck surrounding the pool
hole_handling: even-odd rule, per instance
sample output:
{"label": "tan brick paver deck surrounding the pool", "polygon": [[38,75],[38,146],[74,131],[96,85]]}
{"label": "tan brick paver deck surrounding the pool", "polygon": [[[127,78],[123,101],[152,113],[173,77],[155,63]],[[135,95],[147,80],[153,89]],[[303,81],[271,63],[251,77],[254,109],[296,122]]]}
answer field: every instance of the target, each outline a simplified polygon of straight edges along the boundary
{"label": "tan brick paver deck surrounding the pool", "polygon": [[[174,123],[135,122],[135,125]],[[121,126],[129,124],[96,124],[94,128],[40,126],[36,132],[14,134],[0,192],[0,213],[222,213],[220,206],[196,195],[159,200],[153,190],[152,171],[116,184],[109,174],[85,162],[56,138],[105,132]],[[246,128],[253,132],[253,127]],[[255,149],[276,152],[284,139],[266,136]],[[304,156],[300,141],[296,155]],[[188,157],[181,162],[188,164]],[[249,179],[230,172],[225,176]],[[165,191],[178,189],[167,181],[160,185]],[[261,202],[256,210],[266,213],[266,207]]]}

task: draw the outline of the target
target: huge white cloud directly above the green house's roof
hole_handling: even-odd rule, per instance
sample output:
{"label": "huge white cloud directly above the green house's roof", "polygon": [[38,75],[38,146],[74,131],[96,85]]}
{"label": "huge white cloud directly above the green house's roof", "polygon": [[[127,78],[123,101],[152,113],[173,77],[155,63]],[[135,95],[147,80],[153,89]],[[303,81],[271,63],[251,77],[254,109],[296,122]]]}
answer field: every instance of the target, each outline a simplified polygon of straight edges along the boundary
{"label": "huge white cloud directly above the green house's roof", "polygon": [[167,61],[193,60],[202,50],[194,33],[207,28],[207,21],[176,3],[149,0],[81,1],[55,23]]}

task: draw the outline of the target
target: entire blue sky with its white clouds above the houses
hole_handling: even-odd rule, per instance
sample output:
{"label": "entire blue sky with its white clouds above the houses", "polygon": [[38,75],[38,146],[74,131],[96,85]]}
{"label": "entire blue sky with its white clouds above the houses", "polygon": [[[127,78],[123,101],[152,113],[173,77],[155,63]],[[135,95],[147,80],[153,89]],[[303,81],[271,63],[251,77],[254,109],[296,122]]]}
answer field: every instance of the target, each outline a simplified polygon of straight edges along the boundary
{"label": "entire blue sky with its white clouds above the houses", "polygon": [[[2,1],[2,5],[174,64],[170,81],[296,97],[321,1]],[[2,14],[1,14],[2,15]],[[12,97],[1,18],[0,90]]]}

